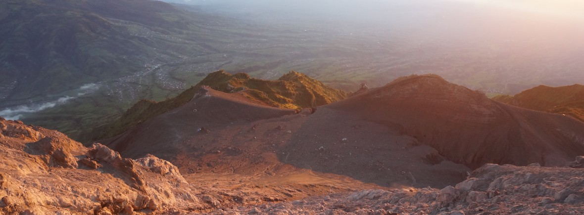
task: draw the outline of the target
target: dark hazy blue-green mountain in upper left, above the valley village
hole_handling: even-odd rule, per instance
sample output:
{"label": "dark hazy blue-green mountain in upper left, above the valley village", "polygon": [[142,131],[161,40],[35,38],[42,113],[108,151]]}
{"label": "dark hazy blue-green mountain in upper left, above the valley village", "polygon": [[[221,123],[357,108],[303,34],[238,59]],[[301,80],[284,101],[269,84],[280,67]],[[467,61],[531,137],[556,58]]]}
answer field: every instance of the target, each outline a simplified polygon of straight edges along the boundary
{"label": "dark hazy blue-green mountain in upper left, above the valley village", "polygon": [[141,71],[150,59],[176,55],[162,50],[185,44],[170,36],[194,20],[150,0],[7,0],[0,11],[0,84],[14,85],[0,99],[12,102]]}

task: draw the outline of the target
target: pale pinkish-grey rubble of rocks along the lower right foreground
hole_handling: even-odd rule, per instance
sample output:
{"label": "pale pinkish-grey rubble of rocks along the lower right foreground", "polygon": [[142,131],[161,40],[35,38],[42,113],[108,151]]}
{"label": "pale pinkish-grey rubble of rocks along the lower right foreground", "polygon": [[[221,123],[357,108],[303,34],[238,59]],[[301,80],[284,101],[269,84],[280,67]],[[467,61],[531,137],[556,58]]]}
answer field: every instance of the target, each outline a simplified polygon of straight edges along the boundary
{"label": "pale pinkish-grey rubble of rocks along the lower right foreground", "polygon": [[213,214],[584,214],[584,170],[485,164],[443,189],[336,193]]}

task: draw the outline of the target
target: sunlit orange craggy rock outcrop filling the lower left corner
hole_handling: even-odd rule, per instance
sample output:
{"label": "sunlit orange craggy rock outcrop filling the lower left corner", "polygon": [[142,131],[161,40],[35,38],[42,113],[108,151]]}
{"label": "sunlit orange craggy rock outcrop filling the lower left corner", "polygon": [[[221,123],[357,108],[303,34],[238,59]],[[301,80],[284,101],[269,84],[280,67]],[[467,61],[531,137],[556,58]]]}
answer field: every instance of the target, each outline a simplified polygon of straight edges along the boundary
{"label": "sunlit orange craggy rock outcrop filling the lower left corner", "polygon": [[86,148],[55,131],[0,119],[0,214],[133,214],[200,207],[178,168]]}

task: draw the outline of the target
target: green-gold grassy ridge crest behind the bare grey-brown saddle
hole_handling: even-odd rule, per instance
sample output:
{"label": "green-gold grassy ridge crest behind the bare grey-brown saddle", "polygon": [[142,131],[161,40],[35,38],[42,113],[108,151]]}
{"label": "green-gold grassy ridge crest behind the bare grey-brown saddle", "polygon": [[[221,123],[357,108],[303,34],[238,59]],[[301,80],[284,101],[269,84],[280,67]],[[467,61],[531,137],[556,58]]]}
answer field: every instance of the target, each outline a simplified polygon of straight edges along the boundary
{"label": "green-gold grassy ridge crest behind the bare grey-brown saddle", "polygon": [[201,86],[225,93],[240,93],[255,103],[279,108],[310,108],[333,103],[347,97],[342,90],[326,86],[303,73],[288,72],[277,80],[262,80],[246,73],[231,75],[225,71],[210,73],[195,86],[178,96],[156,102],[141,100],[128,109],[122,117],[110,125],[98,127],[92,132],[92,139],[110,138],[189,102]]}

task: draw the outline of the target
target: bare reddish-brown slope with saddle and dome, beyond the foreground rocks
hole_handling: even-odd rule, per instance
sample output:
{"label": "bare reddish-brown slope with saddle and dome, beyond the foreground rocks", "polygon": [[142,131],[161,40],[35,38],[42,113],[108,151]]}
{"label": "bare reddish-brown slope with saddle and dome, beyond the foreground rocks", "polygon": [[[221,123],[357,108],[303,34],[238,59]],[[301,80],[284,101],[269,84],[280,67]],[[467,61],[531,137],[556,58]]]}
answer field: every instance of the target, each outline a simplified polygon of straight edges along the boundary
{"label": "bare reddish-brown slope with saddle and dome, beyond the foreground rocks", "polygon": [[296,171],[284,168],[291,165],[381,186],[440,187],[485,163],[564,165],[584,154],[582,135],[584,124],[572,118],[425,75],[298,114],[203,88],[103,143],[128,157],[155,154],[186,173],[259,177]]}

